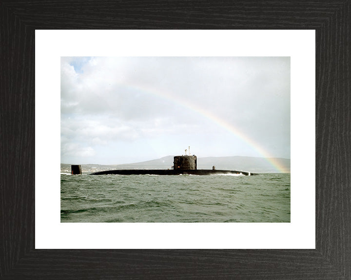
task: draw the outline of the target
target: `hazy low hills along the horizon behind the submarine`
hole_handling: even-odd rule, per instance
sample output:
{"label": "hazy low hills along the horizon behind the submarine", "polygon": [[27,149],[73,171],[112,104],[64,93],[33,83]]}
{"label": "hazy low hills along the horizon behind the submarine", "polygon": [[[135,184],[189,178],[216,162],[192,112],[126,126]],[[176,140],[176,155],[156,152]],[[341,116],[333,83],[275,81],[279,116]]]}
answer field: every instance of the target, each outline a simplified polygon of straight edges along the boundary
{"label": "hazy low hills along the horizon behind the submarine", "polygon": [[[167,156],[158,159],[118,165],[82,164],[83,173],[98,172],[112,169],[171,169],[173,157]],[[290,173],[290,159],[274,157],[270,158],[284,167],[284,172]],[[276,169],[265,157],[198,157],[197,169],[216,169],[238,170],[253,173],[274,173]],[[71,164],[61,163],[61,173],[70,173]]]}

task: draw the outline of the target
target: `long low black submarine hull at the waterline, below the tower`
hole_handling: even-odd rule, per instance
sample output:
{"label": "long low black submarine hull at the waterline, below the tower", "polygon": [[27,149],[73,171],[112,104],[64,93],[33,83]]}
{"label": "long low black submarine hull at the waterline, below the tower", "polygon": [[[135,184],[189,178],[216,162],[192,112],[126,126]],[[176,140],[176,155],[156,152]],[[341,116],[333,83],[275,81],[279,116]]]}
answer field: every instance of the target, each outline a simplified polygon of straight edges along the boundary
{"label": "long low black submarine hull at the waterline, below the tower", "polygon": [[250,172],[235,171],[235,170],[213,170],[213,169],[120,169],[120,170],[107,170],[92,173],[91,175],[255,175]]}

